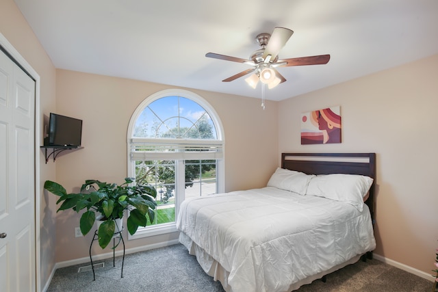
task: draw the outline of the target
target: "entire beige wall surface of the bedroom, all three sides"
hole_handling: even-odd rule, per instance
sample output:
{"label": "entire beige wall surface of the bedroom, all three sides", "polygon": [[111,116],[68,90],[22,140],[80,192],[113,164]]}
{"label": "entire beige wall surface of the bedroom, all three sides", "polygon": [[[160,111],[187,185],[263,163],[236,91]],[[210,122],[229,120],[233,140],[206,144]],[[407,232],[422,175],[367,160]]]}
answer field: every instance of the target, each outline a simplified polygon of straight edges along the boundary
{"label": "entire beige wall surface of the bedroom, all three sides", "polygon": [[[13,0],[0,2],[0,33],[40,75],[40,122],[51,111],[84,120],[82,150],[47,164],[41,152],[41,185],[51,179],[73,190],[86,178],[123,178],[127,124],[133,110],[150,94],[170,87],[56,71]],[[227,191],[265,185],[281,152],[376,152],[376,254],[429,273],[438,245],[438,196],[433,183],[438,162],[437,68],[435,55],[278,104],[271,102],[265,111],[254,98],[192,91],[203,96],[222,120]],[[342,107],[342,144],[301,146],[300,113],[332,105]],[[75,238],[79,216],[55,214],[55,198],[42,190],[39,220],[40,284],[44,285],[55,261],[87,256],[90,238]],[[127,247],[172,238],[175,235],[130,241]]]}

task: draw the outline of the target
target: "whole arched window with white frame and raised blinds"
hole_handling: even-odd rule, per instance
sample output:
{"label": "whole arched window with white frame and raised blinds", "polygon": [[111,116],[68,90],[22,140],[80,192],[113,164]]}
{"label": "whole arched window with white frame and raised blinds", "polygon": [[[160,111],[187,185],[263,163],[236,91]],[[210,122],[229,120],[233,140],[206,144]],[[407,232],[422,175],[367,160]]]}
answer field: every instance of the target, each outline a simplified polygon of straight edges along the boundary
{"label": "whole arched window with white frame and raised blinds", "polygon": [[155,222],[129,239],[176,231],[179,204],[224,191],[224,141],[214,109],[187,90],[146,98],[129,122],[128,172],[157,189]]}

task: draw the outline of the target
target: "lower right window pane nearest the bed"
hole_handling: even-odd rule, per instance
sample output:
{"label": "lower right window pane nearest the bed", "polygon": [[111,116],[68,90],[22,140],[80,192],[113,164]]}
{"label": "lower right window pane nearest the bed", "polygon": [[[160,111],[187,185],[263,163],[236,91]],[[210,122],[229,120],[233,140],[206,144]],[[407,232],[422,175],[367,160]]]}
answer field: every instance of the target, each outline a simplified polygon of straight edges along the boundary
{"label": "lower right window pane nearest the bed", "polygon": [[185,161],[185,198],[216,194],[216,160]]}

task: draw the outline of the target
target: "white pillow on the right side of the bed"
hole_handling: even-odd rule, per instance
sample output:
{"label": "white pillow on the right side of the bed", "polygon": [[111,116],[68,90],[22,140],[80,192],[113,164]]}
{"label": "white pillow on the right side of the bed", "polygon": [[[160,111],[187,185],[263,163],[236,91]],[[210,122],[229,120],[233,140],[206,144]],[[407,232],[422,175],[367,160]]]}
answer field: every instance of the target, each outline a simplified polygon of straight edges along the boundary
{"label": "white pillow on the right side of the bed", "polygon": [[368,194],[373,179],[356,174],[326,174],[311,179],[307,195],[348,202],[359,211],[363,209],[363,198]]}

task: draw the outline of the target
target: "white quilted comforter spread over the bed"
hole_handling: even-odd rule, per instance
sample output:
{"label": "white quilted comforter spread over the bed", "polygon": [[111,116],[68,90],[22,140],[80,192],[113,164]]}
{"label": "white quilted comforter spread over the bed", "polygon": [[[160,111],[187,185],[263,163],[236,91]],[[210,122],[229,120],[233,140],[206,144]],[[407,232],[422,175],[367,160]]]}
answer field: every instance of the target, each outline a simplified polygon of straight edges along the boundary
{"label": "white quilted comforter spread over the bed", "polygon": [[376,246],[366,205],[274,187],[185,200],[177,228],[229,271],[234,292],[287,291]]}

